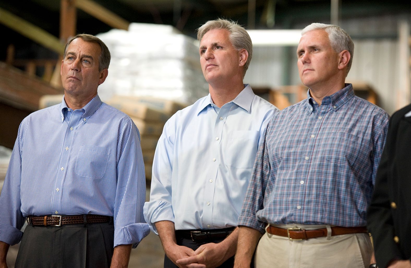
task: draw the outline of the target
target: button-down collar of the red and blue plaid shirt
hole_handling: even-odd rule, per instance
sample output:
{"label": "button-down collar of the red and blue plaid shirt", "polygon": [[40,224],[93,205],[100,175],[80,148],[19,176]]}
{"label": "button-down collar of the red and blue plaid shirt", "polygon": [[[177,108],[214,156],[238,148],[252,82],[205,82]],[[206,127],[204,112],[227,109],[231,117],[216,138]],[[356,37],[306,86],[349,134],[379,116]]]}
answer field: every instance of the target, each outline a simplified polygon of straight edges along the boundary
{"label": "button-down collar of the red and blue plaid shirt", "polygon": [[[345,84],[345,87],[342,88],[341,90],[338,90],[334,94],[330,96],[326,96],[323,98],[321,102],[322,105],[331,105],[332,110],[337,111],[339,108],[341,108],[345,102],[347,102],[349,99],[354,97],[354,90],[353,90],[353,85],[352,84]],[[309,89],[307,90],[307,108],[313,112],[314,108],[314,99],[311,97],[309,94]]]}

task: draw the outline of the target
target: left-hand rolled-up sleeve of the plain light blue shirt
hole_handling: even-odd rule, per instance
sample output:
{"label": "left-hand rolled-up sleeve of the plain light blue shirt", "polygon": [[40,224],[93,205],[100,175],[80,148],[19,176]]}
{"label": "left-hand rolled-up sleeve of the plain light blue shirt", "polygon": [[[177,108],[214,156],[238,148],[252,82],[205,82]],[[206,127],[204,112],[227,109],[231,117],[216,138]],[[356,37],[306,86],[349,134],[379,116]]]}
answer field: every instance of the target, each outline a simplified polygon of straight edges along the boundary
{"label": "left-hand rolled-up sleeve of the plain light blue shirt", "polygon": [[[155,222],[174,222],[171,203],[171,178],[173,169],[175,116],[166,123],[154,154],[150,188],[150,201],[144,204],[145,221],[157,233]],[[158,233],[157,233],[158,234]]]}

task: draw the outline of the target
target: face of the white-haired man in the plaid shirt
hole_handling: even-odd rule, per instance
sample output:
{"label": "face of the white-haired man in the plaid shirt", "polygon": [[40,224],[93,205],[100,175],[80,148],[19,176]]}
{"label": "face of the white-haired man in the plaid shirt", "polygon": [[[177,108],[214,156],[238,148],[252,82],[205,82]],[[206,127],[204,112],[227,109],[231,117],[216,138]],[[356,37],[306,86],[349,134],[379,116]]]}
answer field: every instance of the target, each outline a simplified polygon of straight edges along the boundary
{"label": "face of the white-haired man in the plaid shirt", "polygon": [[332,49],[328,33],[317,29],[306,32],[297,48],[298,72],[309,88],[333,83],[338,75],[339,53]]}

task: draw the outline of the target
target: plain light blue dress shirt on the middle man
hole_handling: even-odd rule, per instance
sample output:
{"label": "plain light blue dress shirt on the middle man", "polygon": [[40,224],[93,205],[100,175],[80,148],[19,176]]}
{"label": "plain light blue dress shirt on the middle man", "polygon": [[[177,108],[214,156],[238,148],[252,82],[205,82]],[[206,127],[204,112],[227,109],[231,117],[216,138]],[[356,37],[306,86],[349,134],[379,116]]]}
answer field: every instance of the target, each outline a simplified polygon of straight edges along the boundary
{"label": "plain light blue dress shirt on the middle man", "polygon": [[277,111],[245,85],[221,108],[208,95],[175,113],[155,151],[144,205],[150,229],[157,233],[154,223],[163,220],[176,230],[237,226],[258,145]]}

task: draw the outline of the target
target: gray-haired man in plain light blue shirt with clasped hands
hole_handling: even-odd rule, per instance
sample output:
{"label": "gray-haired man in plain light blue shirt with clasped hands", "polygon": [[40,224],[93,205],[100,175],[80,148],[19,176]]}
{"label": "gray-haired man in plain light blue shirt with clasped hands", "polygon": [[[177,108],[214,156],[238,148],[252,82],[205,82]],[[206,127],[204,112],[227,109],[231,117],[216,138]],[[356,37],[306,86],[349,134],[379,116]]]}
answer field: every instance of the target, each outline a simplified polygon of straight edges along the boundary
{"label": "gray-haired man in plain light blue shirt with clasped hands", "polygon": [[252,56],[244,28],[208,21],[197,38],[210,94],[164,126],[144,217],[160,236],[164,267],[232,267],[254,158],[278,110],[242,82]]}

